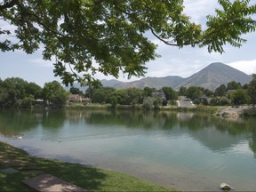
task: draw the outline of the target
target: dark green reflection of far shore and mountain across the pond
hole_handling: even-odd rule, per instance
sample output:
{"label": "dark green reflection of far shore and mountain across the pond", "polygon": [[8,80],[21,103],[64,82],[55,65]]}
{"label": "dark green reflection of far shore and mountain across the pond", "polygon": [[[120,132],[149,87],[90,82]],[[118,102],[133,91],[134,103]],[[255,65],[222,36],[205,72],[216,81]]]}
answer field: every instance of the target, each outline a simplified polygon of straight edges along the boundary
{"label": "dark green reflection of far shore and mountain across the pond", "polygon": [[171,111],[0,110],[0,132],[6,137],[22,135],[24,132],[42,127],[51,131],[50,133],[55,130],[51,136],[53,140],[53,137],[59,137],[56,130],[63,129],[65,122],[73,125],[91,124],[96,128],[122,126],[133,130],[170,132],[175,129],[176,131],[172,130],[172,135],[189,134],[212,151],[225,151],[245,138],[248,139],[249,147],[256,157],[255,119],[228,121],[200,113]]}

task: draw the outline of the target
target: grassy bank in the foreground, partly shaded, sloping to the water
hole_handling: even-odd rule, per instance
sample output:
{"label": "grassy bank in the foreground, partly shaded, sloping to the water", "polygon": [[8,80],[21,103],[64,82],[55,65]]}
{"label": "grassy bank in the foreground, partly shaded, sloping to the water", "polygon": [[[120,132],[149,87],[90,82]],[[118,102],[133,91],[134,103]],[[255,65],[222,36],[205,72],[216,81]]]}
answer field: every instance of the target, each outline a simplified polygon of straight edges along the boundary
{"label": "grassy bank in the foreground, partly shaded, sloping to the water", "polygon": [[124,173],[29,156],[20,148],[0,141],[0,170],[9,167],[19,172],[0,172],[0,191],[29,191],[29,188],[21,184],[21,180],[42,172],[89,191],[172,191]]}

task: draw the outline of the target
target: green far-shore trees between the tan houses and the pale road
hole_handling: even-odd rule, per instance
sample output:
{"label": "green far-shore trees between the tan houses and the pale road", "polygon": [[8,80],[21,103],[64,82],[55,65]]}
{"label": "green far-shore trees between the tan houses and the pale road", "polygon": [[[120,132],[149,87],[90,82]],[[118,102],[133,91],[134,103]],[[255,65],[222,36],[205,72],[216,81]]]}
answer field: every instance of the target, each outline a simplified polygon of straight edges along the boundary
{"label": "green far-shore trees between the tan houses and the pale road", "polygon": [[127,88],[116,90],[112,87],[99,86],[90,87],[85,91],[85,97],[91,98],[92,103],[111,104],[112,108],[116,104],[120,105],[142,105],[142,108],[153,109],[159,106],[166,106],[168,103],[175,103],[178,100],[178,92],[172,87],[156,88],[145,87],[143,90],[138,88]]}

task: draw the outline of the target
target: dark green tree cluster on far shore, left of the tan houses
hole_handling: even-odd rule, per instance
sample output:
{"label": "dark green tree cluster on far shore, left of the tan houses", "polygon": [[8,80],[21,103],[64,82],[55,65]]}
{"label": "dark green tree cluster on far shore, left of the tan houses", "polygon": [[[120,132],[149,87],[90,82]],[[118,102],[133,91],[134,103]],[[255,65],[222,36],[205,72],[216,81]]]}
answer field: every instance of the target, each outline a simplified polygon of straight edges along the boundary
{"label": "dark green tree cluster on far shore, left of the tan houses", "polygon": [[46,83],[42,88],[17,77],[0,79],[0,108],[31,108],[36,100],[59,107],[65,105],[67,99],[68,92],[57,81]]}

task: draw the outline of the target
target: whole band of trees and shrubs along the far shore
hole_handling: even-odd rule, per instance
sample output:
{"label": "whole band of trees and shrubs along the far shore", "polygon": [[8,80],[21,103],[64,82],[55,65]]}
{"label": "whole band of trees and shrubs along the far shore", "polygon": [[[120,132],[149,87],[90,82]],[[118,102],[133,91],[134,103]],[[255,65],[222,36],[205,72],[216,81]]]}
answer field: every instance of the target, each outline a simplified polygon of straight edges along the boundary
{"label": "whole band of trees and shrubs along the far shore", "polygon": [[[199,86],[144,89],[115,89],[101,84],[89,87],[85,92],[71,87],[67,92],[57,81],[40,87],[21,78],[0,79],[0,108],[116,108],[140,110],[204,111],[216,113],[221,106],[255,105],[256,76],[252,82],[244,84],[230,82],[221,84],[214,92]],[[177,105],[182,95],[188,98],[196,108]],[[245,116],[254,116],[253,110]]]}

